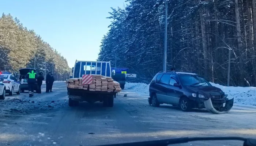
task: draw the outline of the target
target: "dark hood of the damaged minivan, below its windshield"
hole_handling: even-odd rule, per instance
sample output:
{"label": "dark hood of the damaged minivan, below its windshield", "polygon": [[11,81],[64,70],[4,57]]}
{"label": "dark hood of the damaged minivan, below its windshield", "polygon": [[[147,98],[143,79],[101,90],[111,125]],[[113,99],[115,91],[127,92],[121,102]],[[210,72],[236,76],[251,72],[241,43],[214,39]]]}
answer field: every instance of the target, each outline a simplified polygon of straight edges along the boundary
{"label": "dark hood of the damaged minivan, below its windshield", "polygon": [[194,93],[196,93],[197,91],[199,93],[205,93],[205,94],[223,94],[224,93],[221,89],[214,86],[194,86],[194,87],[187,86],[187,88]]}

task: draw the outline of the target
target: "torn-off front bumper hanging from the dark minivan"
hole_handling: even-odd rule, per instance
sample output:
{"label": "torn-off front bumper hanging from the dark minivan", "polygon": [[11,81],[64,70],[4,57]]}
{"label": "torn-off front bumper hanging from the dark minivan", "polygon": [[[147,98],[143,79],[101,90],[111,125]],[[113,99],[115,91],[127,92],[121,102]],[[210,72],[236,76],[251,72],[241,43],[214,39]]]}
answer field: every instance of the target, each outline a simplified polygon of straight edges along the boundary
{"label": "torn-off front bumper hanging from the dark minivan", "polygon": [[231,110],[231,108],[233,107],[233,104],[234,104],[234,98],[227,100],[224,107],[219,108],[219,110],[216,110],[212,105],[211,98],[204,101],[204,107],[206,108],[206,110],[213,114],[226,114]]}

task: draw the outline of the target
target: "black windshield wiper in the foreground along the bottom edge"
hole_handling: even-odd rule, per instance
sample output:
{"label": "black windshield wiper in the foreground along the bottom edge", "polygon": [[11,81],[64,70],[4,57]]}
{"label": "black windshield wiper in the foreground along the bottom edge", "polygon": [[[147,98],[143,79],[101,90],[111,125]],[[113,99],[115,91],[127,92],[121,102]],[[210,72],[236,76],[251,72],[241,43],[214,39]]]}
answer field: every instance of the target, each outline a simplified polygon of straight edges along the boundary
{"label": "black windshield wiper in the foreground along the bottom edge", "polygon": [[120,144],[102,145],[102,146],[167,146],[167,145],[187,143],[192,141],[227,141],[227,140],[244,141],[244,146],[256,146],[256,139],[242,138],[242,137],[195,137],[195,138],[186,137],[186,138],[165,139],[165,140],[146,141],[146,142],[120,143]]}

